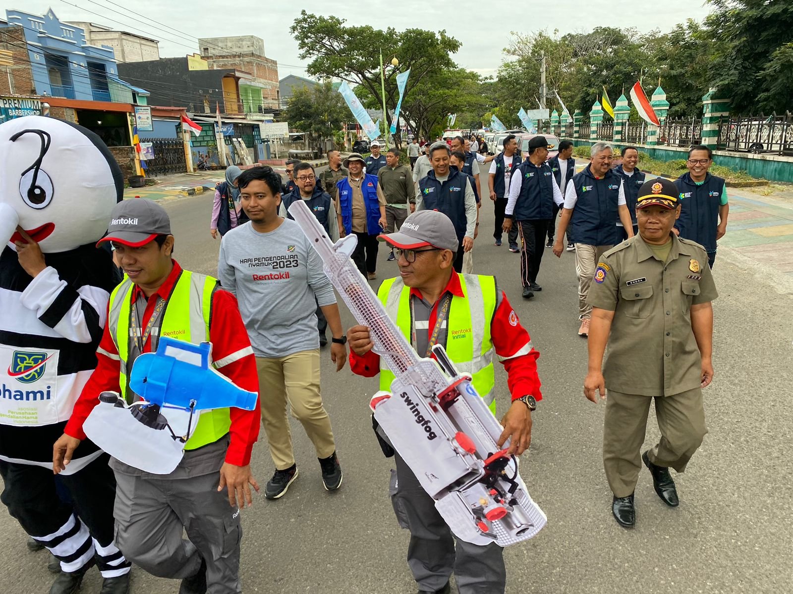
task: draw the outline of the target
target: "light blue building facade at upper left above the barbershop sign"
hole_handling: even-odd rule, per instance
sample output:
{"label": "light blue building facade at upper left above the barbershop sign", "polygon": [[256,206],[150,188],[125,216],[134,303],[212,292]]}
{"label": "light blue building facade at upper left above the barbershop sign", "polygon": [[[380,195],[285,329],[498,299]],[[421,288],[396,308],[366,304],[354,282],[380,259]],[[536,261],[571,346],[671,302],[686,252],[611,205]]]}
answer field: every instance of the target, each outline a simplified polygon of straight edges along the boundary
{"label": "light blue building facade at upper left above the barbershop sign", "polygon": [[6,10],[8,25],[25,31],[33,85],[42,96],[83,101],[145,104],[144,89],[118,78],[113,48],[86,44],[83,29],[59,21],[52,9],[44,16]]}

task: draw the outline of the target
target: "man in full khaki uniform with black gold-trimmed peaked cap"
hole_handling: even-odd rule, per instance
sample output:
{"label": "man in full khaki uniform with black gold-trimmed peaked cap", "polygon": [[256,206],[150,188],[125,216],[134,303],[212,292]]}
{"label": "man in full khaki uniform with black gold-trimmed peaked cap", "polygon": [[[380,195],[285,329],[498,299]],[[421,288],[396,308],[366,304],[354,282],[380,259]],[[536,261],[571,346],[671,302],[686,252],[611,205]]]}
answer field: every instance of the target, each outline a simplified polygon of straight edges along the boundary
{"label": "man in full khaki uniform with black gold-trimmed peaked cap", "polygon": [[[661,178],[642,185],[639,234],[603,254],[588,295],[593,309],[584,395],[597,402],[608,389],[603,466],[614,493],[611,512],[624,527],[636,521],[642,461],[658,496],[676,507],[668,468],[683,472],[707,433],[702,388],[713,379],[711,301],[717,293],[703,247],[672,233],[679,193]],[[640,455],[653,398],[661,440]]]}

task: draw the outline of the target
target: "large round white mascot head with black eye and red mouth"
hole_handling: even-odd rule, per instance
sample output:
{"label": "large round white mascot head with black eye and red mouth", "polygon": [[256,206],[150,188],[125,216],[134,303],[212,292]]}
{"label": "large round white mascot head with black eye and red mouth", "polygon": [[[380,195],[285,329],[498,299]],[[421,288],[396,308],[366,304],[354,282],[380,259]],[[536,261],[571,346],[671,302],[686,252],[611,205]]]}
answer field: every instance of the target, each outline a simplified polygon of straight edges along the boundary
{"label": "large round white mascot head with black eye and red mouth", "polygon": [[22,241],[44,253],[96,243],[124,196],[116,160],[94,132],[25,116],[0,124],[0,246]]}

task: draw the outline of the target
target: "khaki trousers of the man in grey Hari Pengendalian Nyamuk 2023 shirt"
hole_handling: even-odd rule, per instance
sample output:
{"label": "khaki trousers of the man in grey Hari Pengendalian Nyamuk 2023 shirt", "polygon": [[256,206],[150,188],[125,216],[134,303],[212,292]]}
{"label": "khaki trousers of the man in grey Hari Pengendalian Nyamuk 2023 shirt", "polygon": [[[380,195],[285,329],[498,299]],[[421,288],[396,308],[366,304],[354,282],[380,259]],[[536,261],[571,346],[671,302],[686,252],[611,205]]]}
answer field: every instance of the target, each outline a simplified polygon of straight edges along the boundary
{"label": "khaki trousers of the man in grey Hari Pengendalian Nyamuk 2023 shirt", "polygon": [[320,396],[320,349],[293,352],[285,357],[256,357],[259,371],[259,402],[262,425],[270,444],[275,468],[285,470],[295,463],[287,402],[292,416],[301,422],[317,458],[328,458],[335,449],[331,420]]}

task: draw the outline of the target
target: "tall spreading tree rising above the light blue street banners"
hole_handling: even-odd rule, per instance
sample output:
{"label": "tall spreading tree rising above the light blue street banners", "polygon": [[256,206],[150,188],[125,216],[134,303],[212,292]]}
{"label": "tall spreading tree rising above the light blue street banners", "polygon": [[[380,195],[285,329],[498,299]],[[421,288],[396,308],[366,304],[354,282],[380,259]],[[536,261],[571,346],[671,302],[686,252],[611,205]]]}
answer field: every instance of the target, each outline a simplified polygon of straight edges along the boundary
{"label": "tall spreading tree rising above the light blue street banners", "polygon": [[[339,78],[351,86],[366,89],[370,97],[381,97],[380,51],[385,59],[385,116],[386,127],[391,124],[391,109],[397,105],[397,74],[410,69],[405,94],[419,86],[425,77],[441,70],[456,67],[451,55],[460,42],[446,35],[446,31],[423,29],[397,31],[374,29],[370,25],[348,26],[338,17],[322,17],[301,10],[289,29],[297,40],[301,59],[311,59],[308,74]],[[390,66],[392,55],[400,64]],[[356,89],[356,93],[358,89]],[[374,101],[374,100],[373,100]],[[403,104],[404,105],[404,104]]]}

